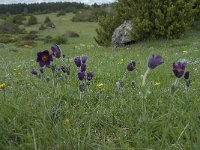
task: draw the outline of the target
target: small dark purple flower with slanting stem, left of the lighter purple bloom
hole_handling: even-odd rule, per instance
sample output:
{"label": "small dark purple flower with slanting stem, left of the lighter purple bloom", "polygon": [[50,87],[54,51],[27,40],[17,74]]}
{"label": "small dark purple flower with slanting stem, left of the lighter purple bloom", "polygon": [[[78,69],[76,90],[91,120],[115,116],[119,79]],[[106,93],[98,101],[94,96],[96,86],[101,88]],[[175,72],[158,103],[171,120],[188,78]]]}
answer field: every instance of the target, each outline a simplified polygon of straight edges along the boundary
{"label": "small dark purple flower with slanting stem, left of the lighter purple bloom", "polygon": [[[120,79],[116,82],[117,89],[123,88],[123,84],[124,84],[123,82],[124,82],[124,79],[125,79],[127,73],[128,73],[128,72],[132,72],[133,70],[135,70],[135,67],[136,67],[136,62],[135,62],[134,60],[131,60],[131,61],[128,63],[127,67],[126,67],[126,70],[125,70],[125,72],[124,72],[122,78],[120,78]],[[133,82],[132,82],[132,85],[133,85]],[[134,85],[135,85],[135,83],[134,83]]]}

